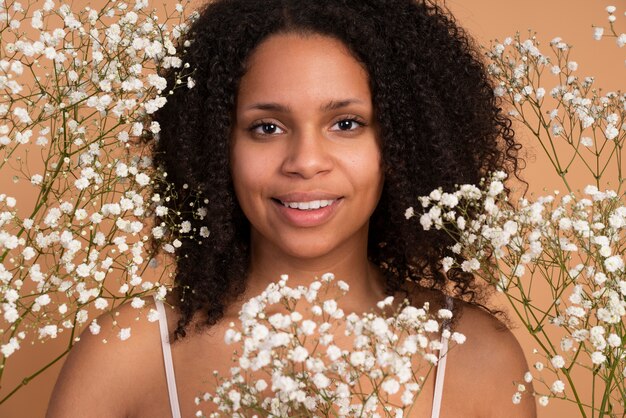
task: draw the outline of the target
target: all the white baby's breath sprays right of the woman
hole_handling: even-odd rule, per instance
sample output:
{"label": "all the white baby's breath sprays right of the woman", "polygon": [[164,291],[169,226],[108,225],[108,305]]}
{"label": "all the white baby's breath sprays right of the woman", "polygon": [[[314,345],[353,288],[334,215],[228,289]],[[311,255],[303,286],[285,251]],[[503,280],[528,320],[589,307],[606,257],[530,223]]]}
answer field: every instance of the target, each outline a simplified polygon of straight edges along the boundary
{"label": "all the white baby's breath sprays right of the woman", "polygon": [[[619,47],[616,8],[609,6],[610,32]],[[594,27],[600,40],[604,29]],[[624,172],[626,94],[602,94],[593,77],[575,75],[571,45],[550,42],[544,55],[535,35],[518,33],[494,41],[486,56],[495,95],[509,115],[537,140],[567,193],[509,202],[504,173],[491,173],[481,185],[434,190],[409,208],[424,229],[453,237],[458,257],[446,257],[444,270],[471,272],[503,293],[531,335],[541,357],[524,382],[534,381],[539,404],[572,402],[580,416],[623,416],[626,406],[626,252]],[[546,89],[546,78],[556,85]],[[572,171],[589,175],[582,192],[568,181]],[[615,190],[600,191],[603,180]],[[478,186],[478,187],[477,187]],[[549,294],[546,303],[538,295]],[[554,378],[546,380],[547,373]],[[581,389],[591,382],[591,393]],[[538,389],[542,387],[543,389]],[[519,403],[520,383],[512,396]]]}

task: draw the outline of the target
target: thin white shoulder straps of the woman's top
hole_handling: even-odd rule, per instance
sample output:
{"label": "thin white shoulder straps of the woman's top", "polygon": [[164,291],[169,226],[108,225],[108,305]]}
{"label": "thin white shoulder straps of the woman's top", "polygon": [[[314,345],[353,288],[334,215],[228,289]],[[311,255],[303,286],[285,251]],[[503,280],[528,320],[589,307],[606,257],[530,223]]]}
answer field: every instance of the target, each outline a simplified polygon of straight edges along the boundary
{"label": "thin white shoulder straps of the woman's top", "polygon": [[[446,296],[446,307],[452,310],[452,298]],[[174,363],[172,362],[172,349],[169,344],[169,331],[167,329],[167,316],[163,302],[154,299],[159,313],[159,330],[161,332],[161,347],[163,349],[163,363],[165,365],[165,378],[167,379],[167,392],[170,398],[172,418],[181,418],[180,405],[178,403],[178,392],[176,390],[176,376],[174,375]],[[444,329],[447,329],[447,321],[444,320]],[[448,356],[448,339],[442,334],[441,350],[439,350],[439,361],[437,362],[437,375],[435,376],[435,393],[433,395],[433,413],[431,418],[439,418],[441,410],[441,395],[443,393],[443,380],[446,373],[446,359]]]}

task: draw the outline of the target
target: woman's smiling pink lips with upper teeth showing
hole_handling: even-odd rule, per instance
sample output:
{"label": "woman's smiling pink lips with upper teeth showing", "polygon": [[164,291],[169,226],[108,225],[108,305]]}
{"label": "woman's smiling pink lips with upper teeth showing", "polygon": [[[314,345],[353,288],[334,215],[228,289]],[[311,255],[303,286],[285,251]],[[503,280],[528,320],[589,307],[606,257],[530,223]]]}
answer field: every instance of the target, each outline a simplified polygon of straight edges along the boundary
{"label": "woman's smiling pink lips with upper teeth showing", "polygon": [[342,197],[327,193],[290,193],[272,201],[287,223],[306,228],[326,223],[336,212]]}

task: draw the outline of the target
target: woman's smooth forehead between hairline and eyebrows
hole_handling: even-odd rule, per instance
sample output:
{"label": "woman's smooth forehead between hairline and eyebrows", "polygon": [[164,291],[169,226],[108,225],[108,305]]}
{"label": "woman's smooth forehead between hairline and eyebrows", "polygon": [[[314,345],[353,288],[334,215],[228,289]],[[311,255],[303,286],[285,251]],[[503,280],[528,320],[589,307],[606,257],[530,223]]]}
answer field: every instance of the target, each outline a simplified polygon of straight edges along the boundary
{"label": "woman's smooth forehead between hairline and eyebrows", "polygon": [[339,40],[317,34],[277,34],[250,55],[238,100],[328,100],[350,96],[369,101],[367,71]]}

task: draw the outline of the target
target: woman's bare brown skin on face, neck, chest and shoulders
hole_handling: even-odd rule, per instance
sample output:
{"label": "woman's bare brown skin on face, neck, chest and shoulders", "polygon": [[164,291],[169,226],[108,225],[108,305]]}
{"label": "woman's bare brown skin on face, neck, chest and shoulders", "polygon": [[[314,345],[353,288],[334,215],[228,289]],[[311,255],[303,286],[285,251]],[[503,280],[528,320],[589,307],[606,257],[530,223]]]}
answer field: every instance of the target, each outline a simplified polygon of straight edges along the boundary
{"label": "woman's bare brown skin on face, neck, chest and shoulders", "polygon": [[[345,100],[350,102],[325,107]],[[250,109],[258,103],[280,104],[288,111]],[[365,126],[338,125],[355,116]],[[270,129],[269,136],[259,135],[261,128],[248,129],[259,121],[278,128]],[[366,244],[383,176],[363,67],[343,44],[328,37],[268,38],[254,52],[242,79],[232,140],[235,189],[252,224],[248,289],[241,300],[260,293],[283,273],[290,275],[293,286],[332,271],[350,284],[340,305],[346,313],[374,308],[384,298],[383,282],[367,260]],[[343,197],[342,206],[322,225],[295,228],[278,216],[270,200],[294,191],[335,193]],[[436,295],[416,290],[414,296],[421,304]],[[153,307],[152,300],[146,305]],[[513,381],[521,381],[528,370],[519,343],[489,314],[463,306],[455,330],[467,341],[448,355],[440,416],[535,417],[532,398],[517,406],[511,402]],[[199,408],[211,410],[207,403],[196,406],[194,398],[213,389],[213,370],[229,375],[233,347],[225,345],[223,335],[229,322],[237,321],[240,307],[241,302],[233,304],[216,326],[172,346],[183,417],[194,416]],[[167,312],[172,330],[177,313]],[[136,320],[138,313],[122,306],[114,314],[115,324],[108,315],[99,319],[100,335],[83,333],[59,376],[48,418],[171,416],[158,323]],[[120,341],[115,326],[131,326],[131,338]],[[348,340],[337,335],[337,344],[348,347]],[[409,416],[430,417],[434,376],[435,369]]]}

